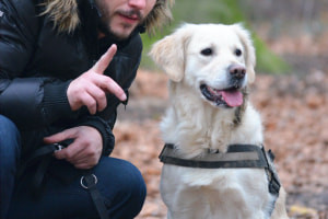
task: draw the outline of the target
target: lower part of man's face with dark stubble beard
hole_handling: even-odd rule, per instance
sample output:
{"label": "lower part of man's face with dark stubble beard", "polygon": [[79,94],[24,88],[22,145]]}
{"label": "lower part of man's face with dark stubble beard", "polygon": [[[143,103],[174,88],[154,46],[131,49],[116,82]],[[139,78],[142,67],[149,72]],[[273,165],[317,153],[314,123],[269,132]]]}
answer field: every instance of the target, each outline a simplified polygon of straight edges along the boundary
{"label": "lower part of man's face with dark stubble beard", "polygon": [[116,37],[127,38],[154,8],[156,0],[95,0],[103,25]]}

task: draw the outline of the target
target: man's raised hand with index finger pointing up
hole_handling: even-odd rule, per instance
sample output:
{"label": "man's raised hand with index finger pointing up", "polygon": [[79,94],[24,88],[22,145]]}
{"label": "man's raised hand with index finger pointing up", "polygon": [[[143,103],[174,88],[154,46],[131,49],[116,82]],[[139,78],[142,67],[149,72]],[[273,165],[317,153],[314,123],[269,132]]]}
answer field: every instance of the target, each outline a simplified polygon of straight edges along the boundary
{"label": "man's raised hand with index finger pointing up", "polygon": [[107,106],[106,93],[113,93],[120,101],[127,99],[124,90],[112,78],[104,76],[116,50],[117,46],[112,45],[89,71],[69,84],[67,96],[72,111],[83,105],[87,107],[90,114],[103,111]]}

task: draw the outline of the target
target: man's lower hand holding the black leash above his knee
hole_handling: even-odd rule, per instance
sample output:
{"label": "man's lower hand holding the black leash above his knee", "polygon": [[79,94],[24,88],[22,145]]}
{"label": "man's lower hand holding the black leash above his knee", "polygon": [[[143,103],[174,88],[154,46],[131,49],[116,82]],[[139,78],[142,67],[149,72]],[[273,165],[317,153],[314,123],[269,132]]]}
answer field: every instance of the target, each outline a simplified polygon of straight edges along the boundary
{"label": "man's lower hand holding the black leash above his knee", "polygon": [[55,152],[57,159],[66,159],[78,169],[91,169],[98,163],[103,151],[103,139],[97,129],[79,126],[46,137],[44,141],[56,143],[67,139],[74,139],[74,141]]}

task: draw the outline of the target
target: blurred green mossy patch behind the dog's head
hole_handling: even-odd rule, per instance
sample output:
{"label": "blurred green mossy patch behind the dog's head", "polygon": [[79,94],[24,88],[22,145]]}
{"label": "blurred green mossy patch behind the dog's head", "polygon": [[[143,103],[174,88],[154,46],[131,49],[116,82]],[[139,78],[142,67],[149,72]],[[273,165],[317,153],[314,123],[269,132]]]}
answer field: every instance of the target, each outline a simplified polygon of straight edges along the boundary
{"label": "blurred green mossy patch behind the dog's head", "polygon": [[[243,23],[246,28],[251,30],[247,23],[247,14],[243,12],[242,0],[176,0],[173,8],[174,21],[171,25],[162,30],[156,36],[142,36],[144,44],[141,67],[156,69],[152,60],[148,57],[151,45],[172,33],[174,28],[184,22],[188,23]],[[286,72],[288,65],[277,55],[268,49],[266,44],[253,33],[253,39],[257,55],[257,71],[268,73]]]}

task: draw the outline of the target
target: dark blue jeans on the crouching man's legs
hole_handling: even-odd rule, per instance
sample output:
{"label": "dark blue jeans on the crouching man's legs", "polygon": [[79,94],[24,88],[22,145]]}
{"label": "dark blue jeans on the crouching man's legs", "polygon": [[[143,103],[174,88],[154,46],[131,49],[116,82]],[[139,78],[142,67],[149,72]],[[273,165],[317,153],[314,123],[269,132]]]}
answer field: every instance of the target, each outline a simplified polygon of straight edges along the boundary
{"label": "dark blue jeans on the crouching man's legs", "polygon": [[[26,187],[28,177],[24,177],[25,180],[17,182],[14,195],[11,197],[20,151],[17,139],[17,131],[13,124],[0,116],[1,219],[4,218],[8,208],[8,219],[98,218],[90,193],[80,185],[80,177],[75,177],[68,184],[59,177],[50,176],[40,197],[36,199]],[[65,175],[66,169],[60,170]],[[67,174],[71,174],[69,171],[72,169],[68,169]],[[33,173],[33,170],[27,171],[25,175],[28,176],[30,173]],[[120,159],[103,157],[93,173],[97,176],[97,188],[104,197],[110,219],[129,219],[140,212],[145,198],[145,184],[136,166]]]}

